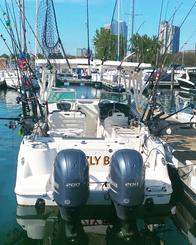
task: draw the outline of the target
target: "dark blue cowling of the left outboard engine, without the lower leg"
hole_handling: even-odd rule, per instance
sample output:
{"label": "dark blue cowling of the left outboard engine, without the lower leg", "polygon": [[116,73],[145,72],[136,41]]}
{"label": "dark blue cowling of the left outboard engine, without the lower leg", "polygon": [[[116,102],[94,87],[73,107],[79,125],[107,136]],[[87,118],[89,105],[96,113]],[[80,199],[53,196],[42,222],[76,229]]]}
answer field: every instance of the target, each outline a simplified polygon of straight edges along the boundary
{"label": "dark blue cowling of the left outboard engine, without the lower leg", "polygon": [[54,162],[54,200],[58,205],[79,207],[89,195],[86,155],[77,149],[60,151]]}

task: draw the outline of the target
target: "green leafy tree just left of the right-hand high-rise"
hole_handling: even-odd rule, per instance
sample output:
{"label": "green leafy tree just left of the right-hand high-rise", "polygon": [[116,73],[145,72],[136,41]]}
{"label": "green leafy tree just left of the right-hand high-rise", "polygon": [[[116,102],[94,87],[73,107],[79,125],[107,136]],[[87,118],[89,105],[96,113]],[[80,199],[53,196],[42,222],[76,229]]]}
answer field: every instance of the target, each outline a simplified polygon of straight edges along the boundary
{"label": "green leafy tree just left of the right-hand high-rise", "polygon": [[146,62],[155,64],[157,53],[160,50],[161,43],[158,37],[153,36],[152,38],[146,34],[140,36],[138,33],[133,35],[131,38],[132,52],[135,52],[135,56],[138,62]]}

